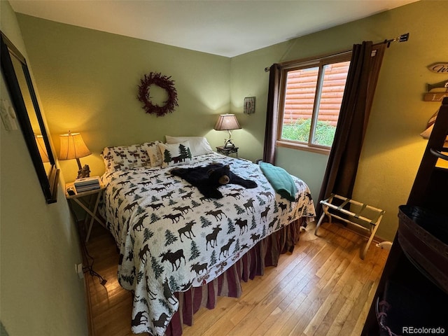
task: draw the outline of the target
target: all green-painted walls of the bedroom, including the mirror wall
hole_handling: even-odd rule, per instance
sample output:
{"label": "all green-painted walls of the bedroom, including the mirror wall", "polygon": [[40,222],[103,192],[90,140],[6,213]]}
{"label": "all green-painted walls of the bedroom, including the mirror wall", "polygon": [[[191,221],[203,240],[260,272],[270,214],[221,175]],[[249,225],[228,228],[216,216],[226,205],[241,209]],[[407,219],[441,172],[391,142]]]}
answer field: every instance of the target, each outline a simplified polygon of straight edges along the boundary
{"label": "all green-painted walls of the bedroom, including the mirror wall", "polygon": [[[1,30],[27,57],[55,148],[57,134],[82,132],[93,155],[81,159],[102,174],[104,146],[173,135],[205,135],[212,146],[225,133],[212,130],[219,113],[237,113],[243,130],[233,132],[241,156],[261,158],[268,73],[274,62],[349,49],[363,40],[383,41],[409,31],[406,43],[386,50],[356,181],[356,199],[386,209],[379,235],[392,239],[398,205],[407,200],[426,141],[419,137],[439,103],[423,102],[426,83],[446,76],[426,66],[446,62],[445,1],[419,1],[357,22],[228,59],[106,34],[16,14],[0,1]],[[25,50],[26,45],[26,50]],[[148,116],[136,99],[144,73],[172,76],[179,108],[163,118]],[[3,80],[1,98],[6,97]],[[256,111],[242,113],[256,97]],[[78,240],[64,200],[62,167],[56,204],[45,204],[19,131],[0,126],[0,318],[10,335],[85,335],[83,281]],[[325,155],[279,148],[277,162],[306,181],[316,198]],[[25,319],[24,319],[25,316]],[[69,330],[69,331],[67,331]]]}

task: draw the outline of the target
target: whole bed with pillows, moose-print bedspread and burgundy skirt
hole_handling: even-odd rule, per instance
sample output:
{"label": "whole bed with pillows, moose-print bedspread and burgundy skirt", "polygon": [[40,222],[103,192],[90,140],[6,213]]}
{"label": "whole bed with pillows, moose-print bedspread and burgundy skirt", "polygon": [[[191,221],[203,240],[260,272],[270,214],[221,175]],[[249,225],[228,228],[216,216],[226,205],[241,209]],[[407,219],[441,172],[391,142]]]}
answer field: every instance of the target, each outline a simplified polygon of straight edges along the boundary
{"label": "whole bed with pillows, moose-print bedspread and burgundy skirt", "polygon": [[[292,251],[300,226],[314,220],[307,185],[291,176],[293,201],[276,193],[260,166],[211,151],[202,137],[167,137],[102,153],[106,186],[99,211],[120,251],[118,281],[132,291],[132,332],[181,335],[217,295],[239,297],[240,281]],[[204,197],[174,168],[229,165],[257,183],[219,187]]]}

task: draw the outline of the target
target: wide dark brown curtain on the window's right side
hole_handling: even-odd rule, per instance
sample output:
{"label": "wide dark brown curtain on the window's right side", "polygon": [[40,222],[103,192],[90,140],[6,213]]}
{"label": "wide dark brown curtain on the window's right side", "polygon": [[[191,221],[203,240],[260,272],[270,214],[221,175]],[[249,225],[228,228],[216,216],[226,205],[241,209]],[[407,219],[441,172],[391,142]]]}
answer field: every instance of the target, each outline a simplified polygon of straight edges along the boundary
{"label": "wide dark brown curtain on the window's right side", "polygon": [[[385,46],[384,43],[372,45],[371,41],[353,45],[335,139],[318,201],[331,193],[351,198]],[[374,57],[372,50],[376,50]],[[318,202],[317,218],[321,211]]]}

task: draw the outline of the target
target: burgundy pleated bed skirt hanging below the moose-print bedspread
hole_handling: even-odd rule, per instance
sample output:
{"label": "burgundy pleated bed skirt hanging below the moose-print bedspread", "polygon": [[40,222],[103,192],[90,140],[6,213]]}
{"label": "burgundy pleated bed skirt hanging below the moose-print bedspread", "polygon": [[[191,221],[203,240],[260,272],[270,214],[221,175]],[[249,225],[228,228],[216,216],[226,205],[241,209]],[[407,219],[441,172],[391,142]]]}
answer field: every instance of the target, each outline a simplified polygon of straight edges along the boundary
{"label": "burgundy pleated bed skirt hanging below the moose-print bedspread", "polygon": [[282,253],[292,252],[299,241],[300,226],[304,223],[305,218],[301,218],[259,241],[235,265],[206,285],[175,293],[179,310],[174,314],[165,335],[182,335],[182,325],[193,325],[193,314],[201,307],[214,309],[218,296],[240,297],[241,280],[248,281],[263,275],[265,267],[277,265]]}

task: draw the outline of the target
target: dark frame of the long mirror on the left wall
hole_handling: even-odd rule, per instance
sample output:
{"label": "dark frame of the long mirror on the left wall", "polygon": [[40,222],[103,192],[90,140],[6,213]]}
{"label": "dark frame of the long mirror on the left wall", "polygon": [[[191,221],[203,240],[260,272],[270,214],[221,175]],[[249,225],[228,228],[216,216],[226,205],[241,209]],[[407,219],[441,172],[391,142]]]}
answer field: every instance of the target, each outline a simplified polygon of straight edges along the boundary
{"label": "dark frame of the long mirror on the left wall", "polygon": [[[27,62],[20,51],[15,48],[13,43],[3,34],[3,31],[0,31],[0,33],[1,72],[3,73],[3,78],[6,82],[6,87],[8,88],[10,99],[12,100],[15,114],[20,124],[20,129],[22,130],[23,137],[25,138],[25,143],[27,144],[29,155],[31,155],[34,169],[36,169],[39,183],[41,183],[45,201],[48,204],[55,203],[57,201],[57,183],[59,179],[59,169],[56,168],[55,157],[53,156],[50,141],[48,139],[48,134],[45,130],[45,123],[43,122],[41,109],[39,109],[38,106],[36,92],[34,91],[34,86],[31,81]],[[50,160],[49,163],[51,167],[48,174],[45,171],[41,155],[38,151],[35,134],[31,127],[31,121],[29,120],[28,113],[33,113],[33,111],[27,111],[27,106],[25,105],[25,100],[23,99],[22,90],[20,89],[20,84],[18,82],[11,57],[15,57],[15,59],[18,59],[18,61],[22,65],[25,80],[27,81],[29,95],[34,106],[34,111],[36,113],[38,125],[41,130],[45,149],[48,153],[48,159]]]}

